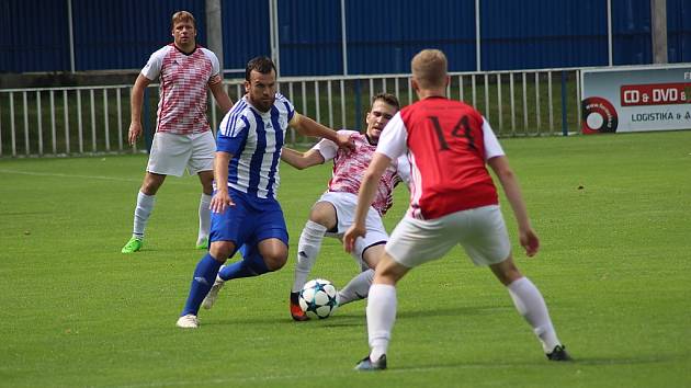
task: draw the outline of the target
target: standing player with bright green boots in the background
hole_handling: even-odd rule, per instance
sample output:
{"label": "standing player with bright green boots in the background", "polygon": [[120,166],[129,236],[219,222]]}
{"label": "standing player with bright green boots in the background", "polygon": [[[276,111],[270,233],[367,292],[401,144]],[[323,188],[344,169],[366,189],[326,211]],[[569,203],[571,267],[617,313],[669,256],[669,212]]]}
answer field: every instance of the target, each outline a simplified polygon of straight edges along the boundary
{"label": "standing player with bright green boots in the background", "polygon": [[141,135],[144,91],[160,78],[156,135],[146,175],[137,195],[134,230],[122,249],[123,253],[141,249],[144,229],[154,209],[156,193],[167,175],[181,176],[185,168],[190,174],[200,176],[203,187],[196,247],[206,249],[208,243],[216,144],[206,119],[207,91],[212,91],[224,114],[230,110],[233,102],[223,88],[218,58],[211,50],[196,45],[194,16],[186,11],[175,12],[171,26],[173,43],[151,55],[132,89],[128,140],[134,145]]}

